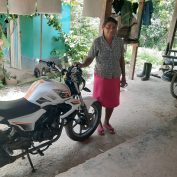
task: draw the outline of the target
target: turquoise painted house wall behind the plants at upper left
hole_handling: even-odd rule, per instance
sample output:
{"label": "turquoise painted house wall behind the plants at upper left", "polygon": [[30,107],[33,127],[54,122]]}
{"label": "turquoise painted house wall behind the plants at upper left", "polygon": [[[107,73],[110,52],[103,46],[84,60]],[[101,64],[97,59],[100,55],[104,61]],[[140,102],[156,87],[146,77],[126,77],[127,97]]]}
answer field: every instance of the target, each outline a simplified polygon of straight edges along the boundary
{"label": "turquoise painted house wall behind the plants at upper left", "polygon": [[[69,5],[62,6],[62,30],[66,33],[70,31],[70,11]],[[50,52],[53,49],[64,50],[64,44],[53,40],[54,36],[58,36],[58,32],[48,26],[44,15],[42,16],[42,26],[42,59],[47,60],[51,58]],[[20,31],[22,60],[23,58],[27,60],[40,58],[40,16],[20,16]]]}

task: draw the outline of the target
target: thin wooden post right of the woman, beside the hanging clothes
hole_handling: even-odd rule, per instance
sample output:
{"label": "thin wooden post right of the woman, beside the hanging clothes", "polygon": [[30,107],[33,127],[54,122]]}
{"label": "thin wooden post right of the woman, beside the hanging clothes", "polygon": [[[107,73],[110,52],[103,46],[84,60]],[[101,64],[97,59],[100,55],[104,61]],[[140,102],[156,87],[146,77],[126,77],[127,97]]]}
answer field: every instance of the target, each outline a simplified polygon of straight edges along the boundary
{"label": "thin wooden post right of the woman, beside the hanging clothes", "polygon": [[[145,0],[141,0],[139,2],[139,7],[138,7],[138,14],[137,14],[137,33],[138,33],[138,38],[140,36],[141,32],[141,22],[142,22],[142,14],[143,14],[143,9],[144,9],[144,3]],[[131,67],[130,67],[130,79],[134,79],[134,73],[135,73],[135,66],[136,66],[136,58],[137,58],[137,53],[138,53],[138,43],[132,44],[132,57],[131,57]]]}

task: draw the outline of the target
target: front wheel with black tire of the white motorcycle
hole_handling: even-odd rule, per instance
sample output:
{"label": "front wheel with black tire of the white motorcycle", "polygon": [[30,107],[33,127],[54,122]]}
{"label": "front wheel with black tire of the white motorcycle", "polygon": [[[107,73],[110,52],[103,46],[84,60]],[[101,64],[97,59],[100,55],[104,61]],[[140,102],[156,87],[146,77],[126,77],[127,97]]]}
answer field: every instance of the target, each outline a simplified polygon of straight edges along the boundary
{"label": "front wheel with black tire of the white motorcycle", "polygon": [[91,125],[89,127],[83,127],[83,124],[81,123],[80,118],[77,116],[77,114],[65,126],[66,133],[72,140],[84,141],[94,133],[101,120],[100,103],[94,102],[88,109],[88,113],[92,114],[92,116],[90,117],[90,121],[92,122],[90,122]]}

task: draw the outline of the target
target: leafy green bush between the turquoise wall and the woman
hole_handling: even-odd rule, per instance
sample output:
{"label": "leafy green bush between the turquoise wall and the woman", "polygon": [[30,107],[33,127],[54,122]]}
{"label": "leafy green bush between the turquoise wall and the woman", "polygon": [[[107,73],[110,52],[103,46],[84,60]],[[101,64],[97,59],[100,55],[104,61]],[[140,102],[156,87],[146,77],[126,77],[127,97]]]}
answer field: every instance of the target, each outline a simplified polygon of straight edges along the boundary
{"label": "leafy green bush between the turquoise wall and the woman", "polygon": [[72,19],[70,33],[66,34],[62,31],[60,19],[56,16],[47,16],[48,24],[58,30],[58,36],[54,37],[55,41],[63,42],[65,50],[54,49],[51,51],[53,57],[69,57],[72,61],[83,60],[93,42],[98,35],[98,22],[95,19],[83,17],[82,3],[72,4]]}

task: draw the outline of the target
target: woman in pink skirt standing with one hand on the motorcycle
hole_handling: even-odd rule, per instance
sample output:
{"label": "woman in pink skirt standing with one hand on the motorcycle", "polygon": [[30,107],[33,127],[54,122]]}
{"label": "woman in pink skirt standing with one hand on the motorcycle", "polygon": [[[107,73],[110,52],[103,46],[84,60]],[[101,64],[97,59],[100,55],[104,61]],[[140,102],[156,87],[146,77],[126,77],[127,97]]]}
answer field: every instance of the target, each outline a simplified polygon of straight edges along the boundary
{"label": "woman in pink skirt standing with one hand on the motorcycle", "polygon": [[93,97],[105,107],[104,122],[100,122],[97,128],[99,135],[104,135],[104,129],[115,133],[110,118],[114,108],[119,105],[121,75],[121,85],[126,84],[123,41],[116,36],[117,24],[112,17],[105,19],[103,35],[94,40],[87,58],[82,64],[79,63],[84,68],[96,58]]}

